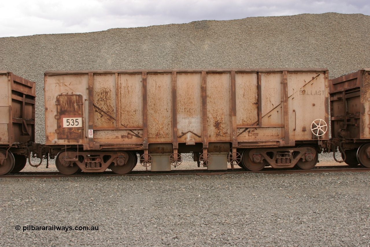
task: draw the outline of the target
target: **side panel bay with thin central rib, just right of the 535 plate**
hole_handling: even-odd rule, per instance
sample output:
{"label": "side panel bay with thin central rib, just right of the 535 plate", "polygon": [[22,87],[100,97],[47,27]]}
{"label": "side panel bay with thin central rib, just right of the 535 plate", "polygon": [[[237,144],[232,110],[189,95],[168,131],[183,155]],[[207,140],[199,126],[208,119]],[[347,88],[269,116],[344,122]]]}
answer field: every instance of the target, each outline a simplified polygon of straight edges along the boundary
{"label": "side panel bay with thin central rib, just right of the 535 plate", "polygon": [[94,75],[94,141],[142,142],[141,74]]}

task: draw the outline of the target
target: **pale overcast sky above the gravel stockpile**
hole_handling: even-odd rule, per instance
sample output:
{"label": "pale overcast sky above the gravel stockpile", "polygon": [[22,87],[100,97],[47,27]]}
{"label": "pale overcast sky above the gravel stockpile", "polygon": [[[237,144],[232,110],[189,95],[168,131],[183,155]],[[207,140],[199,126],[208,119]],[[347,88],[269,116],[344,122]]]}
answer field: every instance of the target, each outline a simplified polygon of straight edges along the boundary
{"label": "pale overcast sky above the gravel stockpile", "polygon": [[0,6],[0,37],[303,13],[370,15],[369,0],[4,0]]}

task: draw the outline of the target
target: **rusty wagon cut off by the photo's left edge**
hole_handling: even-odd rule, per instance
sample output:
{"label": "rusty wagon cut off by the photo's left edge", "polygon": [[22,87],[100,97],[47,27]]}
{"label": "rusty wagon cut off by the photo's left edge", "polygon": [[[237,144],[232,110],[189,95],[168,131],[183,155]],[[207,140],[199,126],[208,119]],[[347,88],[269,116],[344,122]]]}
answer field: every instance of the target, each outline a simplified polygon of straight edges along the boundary
{"label": "rusty wagon cut off by the photo's left edge", "polygon": [[0,71],[0,175],[26,165],[35,141],[35,83]]}

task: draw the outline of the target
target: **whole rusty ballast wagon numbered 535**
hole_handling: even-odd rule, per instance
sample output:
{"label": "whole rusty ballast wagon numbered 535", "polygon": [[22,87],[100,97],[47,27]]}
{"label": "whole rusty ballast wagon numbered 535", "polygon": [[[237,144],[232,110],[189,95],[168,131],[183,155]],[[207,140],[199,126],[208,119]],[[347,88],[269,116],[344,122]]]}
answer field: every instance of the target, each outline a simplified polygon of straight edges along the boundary
{"label": "whole rusty ballast wagon numbered 535", "polygon": [[45,72],[46,145],[63,174],[198,166],[310,169],[328,139],[326,69]]}

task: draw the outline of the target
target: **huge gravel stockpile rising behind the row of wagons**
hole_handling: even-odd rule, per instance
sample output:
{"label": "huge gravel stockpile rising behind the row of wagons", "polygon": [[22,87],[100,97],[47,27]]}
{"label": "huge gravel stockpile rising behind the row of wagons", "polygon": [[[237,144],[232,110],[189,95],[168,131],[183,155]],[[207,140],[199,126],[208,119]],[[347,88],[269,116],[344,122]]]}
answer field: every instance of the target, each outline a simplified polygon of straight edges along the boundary
{"label": "huge gravel stockpile rising behind the row of wagons", "polygon": [[370,67],[370,16],[300,14],[0,38],[0,70],[37,82],[44,143],[46,70]]}

